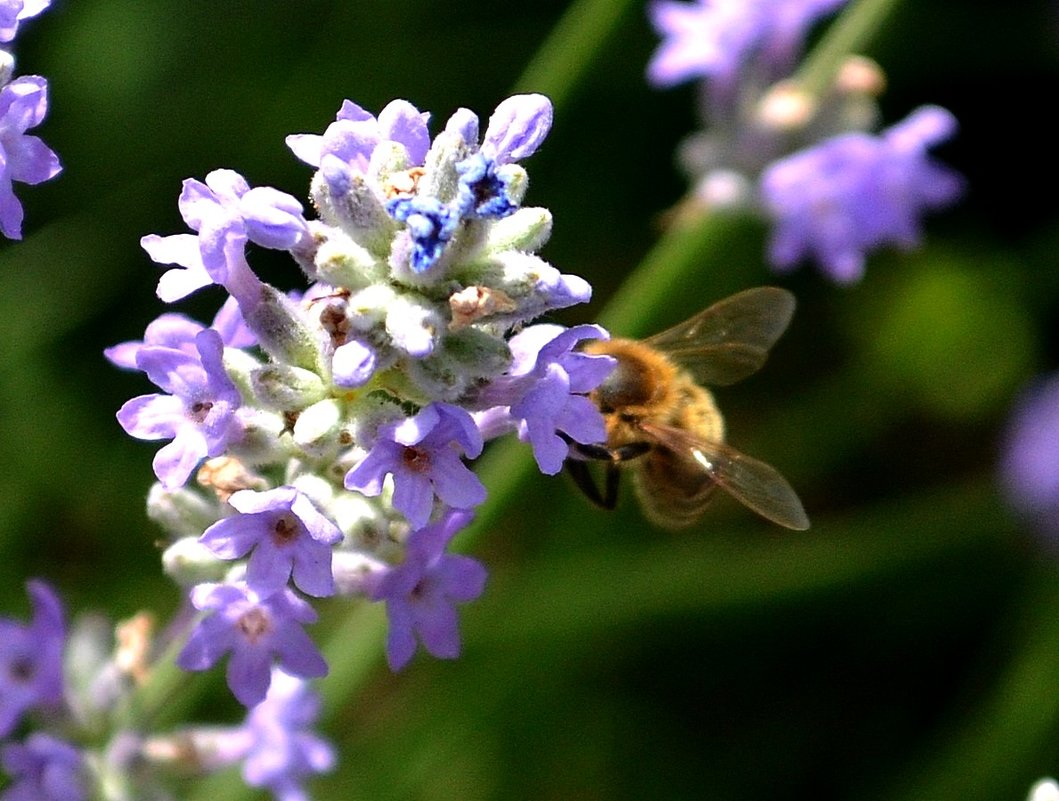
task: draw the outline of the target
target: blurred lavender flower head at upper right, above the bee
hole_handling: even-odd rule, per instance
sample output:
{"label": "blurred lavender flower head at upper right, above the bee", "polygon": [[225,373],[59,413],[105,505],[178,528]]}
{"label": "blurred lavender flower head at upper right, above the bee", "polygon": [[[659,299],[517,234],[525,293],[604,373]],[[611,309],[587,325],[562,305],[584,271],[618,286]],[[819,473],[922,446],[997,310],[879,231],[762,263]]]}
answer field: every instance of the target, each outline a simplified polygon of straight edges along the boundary
{"label": "blurred lavender flower head at upper right, above the bee", "polygon": [[683,211],[752,209],[772,224],[775,269],[811,257],[848,284],[868,251],[914,246],[919,217],[952,202],[963,181],[928,154],[955,132],[945,109],[870,132],[885,83],[874,63],[848,59],[822,96],[793,77],[808,30],[844,1],[654,0],[663,41],[647,77],[659,87],[701,81],[703,130],[680,150],[693,181]]}

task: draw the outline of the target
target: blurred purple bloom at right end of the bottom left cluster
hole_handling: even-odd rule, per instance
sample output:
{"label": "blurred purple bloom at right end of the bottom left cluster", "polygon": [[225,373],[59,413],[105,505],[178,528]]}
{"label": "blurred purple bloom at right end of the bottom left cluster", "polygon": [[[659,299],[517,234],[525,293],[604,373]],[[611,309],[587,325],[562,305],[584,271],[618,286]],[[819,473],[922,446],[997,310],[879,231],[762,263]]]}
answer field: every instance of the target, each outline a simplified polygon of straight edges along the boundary
{"label": "blurred purple bloom at right end of the bottom left cluster", "polygon": [[250,710],[244,730],[250,745],[243,778],[251,787],[267,787],[279,801],[308,801],[302,782],[330,770],[335,749],[312,731],[320,697],[301,679],[272,670],[265,700]]}

